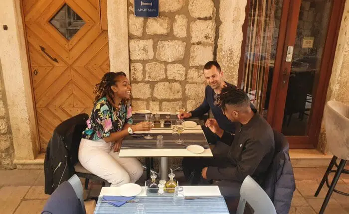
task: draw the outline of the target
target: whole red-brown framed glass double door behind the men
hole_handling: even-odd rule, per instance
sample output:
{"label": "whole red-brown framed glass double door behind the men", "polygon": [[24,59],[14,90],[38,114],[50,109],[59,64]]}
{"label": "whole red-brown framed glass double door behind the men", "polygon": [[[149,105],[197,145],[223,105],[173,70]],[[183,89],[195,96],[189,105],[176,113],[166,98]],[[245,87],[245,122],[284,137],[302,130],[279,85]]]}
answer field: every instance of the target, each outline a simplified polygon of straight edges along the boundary
{"label": "whole red-brown framed glass double door behind the men", "polygon": [[238,84],[291,148],[317,145],[344,0],[249,0]]}

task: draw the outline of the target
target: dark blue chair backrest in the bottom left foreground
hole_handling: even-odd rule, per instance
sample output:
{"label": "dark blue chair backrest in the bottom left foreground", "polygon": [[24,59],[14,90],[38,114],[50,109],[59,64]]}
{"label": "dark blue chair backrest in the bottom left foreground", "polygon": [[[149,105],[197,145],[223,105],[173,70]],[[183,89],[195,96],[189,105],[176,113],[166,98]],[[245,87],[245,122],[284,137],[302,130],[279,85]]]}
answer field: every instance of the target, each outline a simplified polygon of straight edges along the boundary
{"label": "dark blue chair backrest in the bottom left foreground", "polygon": [[86,214],[72,185],[64,181],[46,201],[41,214]]}

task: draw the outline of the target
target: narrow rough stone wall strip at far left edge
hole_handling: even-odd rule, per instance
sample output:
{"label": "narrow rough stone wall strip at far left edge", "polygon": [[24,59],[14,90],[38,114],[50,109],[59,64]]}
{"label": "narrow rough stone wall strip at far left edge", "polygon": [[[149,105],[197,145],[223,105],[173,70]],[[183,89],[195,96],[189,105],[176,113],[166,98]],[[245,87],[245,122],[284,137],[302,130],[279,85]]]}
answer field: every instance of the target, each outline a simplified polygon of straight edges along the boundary
{"label": "narrow rough stone wall strip at far left edge", "polygon": [[0,168],[14,168],[14,149],[11,128],[9,126],[6,95],[3,89],[3,78],[0,61]]}

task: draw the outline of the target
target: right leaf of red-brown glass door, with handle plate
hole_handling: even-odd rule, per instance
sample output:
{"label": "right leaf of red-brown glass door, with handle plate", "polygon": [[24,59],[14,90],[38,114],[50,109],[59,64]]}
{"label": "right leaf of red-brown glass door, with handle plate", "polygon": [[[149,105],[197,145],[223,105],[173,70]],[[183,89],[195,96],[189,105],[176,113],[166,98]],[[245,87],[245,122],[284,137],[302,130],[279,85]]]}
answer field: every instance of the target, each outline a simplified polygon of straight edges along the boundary
{"label": "right leaf of red-brown glass door, with handle plate", "polygon": [[343,3],[290,2],[281,72],[271,97],[272,126],[287,136],[291,148],[317,147]]}

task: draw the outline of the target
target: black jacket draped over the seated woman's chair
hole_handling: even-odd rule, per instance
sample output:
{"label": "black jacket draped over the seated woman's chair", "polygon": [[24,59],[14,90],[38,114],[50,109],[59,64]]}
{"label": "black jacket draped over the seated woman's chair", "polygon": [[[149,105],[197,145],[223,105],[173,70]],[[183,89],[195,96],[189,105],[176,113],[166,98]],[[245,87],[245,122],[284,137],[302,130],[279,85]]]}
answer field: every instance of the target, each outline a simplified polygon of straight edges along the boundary
{"label": "black jacket draped over the seated woman's chair", "polygon": [[60,123],[53,131],[44,161],[45,194],[51,195],[59,184],[68,180],[78,162],[81,133],[86,129],[86,113]]}

